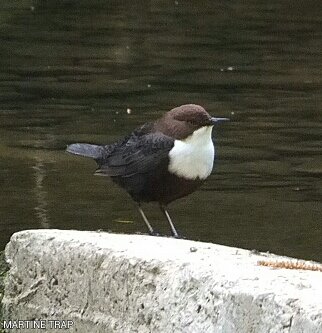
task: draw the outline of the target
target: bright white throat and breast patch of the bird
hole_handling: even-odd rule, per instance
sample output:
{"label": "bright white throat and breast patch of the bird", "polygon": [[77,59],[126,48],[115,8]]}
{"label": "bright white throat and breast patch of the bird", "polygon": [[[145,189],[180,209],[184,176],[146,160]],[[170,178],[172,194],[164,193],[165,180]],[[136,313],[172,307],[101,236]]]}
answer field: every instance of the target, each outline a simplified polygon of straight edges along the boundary
{"label": "bright white throat and breast patch of the bird", "polygon": [[206,179],[215,157],[211,132],[212,126],[205,126],[185,140],[175,140],[169,153],[169,172],[186,179]]}

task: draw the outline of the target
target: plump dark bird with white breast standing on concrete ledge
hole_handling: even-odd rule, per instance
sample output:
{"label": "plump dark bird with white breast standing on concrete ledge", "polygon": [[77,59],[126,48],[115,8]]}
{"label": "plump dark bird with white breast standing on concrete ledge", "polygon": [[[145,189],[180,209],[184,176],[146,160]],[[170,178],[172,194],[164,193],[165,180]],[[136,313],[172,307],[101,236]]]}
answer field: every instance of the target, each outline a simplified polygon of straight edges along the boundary
{"label": "plump dark bird with white breast standing on concrete ledge", "polygon": [[211,174],[215,159],[212,129],[226,120],[210,116],[200,105],[185,104],[114,143],[73,143],[66,151],[94,159],[98,166],[94,174],[110,177],[132,197],[150,235],[158,234],[142,204],[156,202],[172,236],[179,238],[168,204],[196,191]]}

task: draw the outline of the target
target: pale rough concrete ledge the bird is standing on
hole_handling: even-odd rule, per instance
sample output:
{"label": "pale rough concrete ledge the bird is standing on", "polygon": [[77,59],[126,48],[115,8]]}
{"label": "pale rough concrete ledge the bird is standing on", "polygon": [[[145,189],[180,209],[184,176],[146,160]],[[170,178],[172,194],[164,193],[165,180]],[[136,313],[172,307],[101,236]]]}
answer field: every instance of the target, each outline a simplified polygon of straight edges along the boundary
{"label": "pale rough concrete ledge the bird is standing on", "polygon": [[91,333],[322,332],[322,272],[258,265],[276,256],[162,237],[31,230],[12,236],[6,258],[6,319],[73,320],[70,331]]}

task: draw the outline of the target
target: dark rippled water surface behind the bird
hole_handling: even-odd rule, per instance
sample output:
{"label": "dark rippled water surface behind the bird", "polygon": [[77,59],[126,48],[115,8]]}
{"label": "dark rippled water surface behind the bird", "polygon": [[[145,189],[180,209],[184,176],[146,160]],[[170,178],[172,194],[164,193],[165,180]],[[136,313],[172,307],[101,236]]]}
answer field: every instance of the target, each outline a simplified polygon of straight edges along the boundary
{"label": "dark rippled water surface behind the bird", "polygon": [[[64,152],[185,103],[230,117],[187,238],[322,261],[321,1],[0,4],[0,248],[29,228],[145,232],[127,194]],[[131,113],[127,113],[127,109]],[[155,228],[169,233],[153,205]]]}

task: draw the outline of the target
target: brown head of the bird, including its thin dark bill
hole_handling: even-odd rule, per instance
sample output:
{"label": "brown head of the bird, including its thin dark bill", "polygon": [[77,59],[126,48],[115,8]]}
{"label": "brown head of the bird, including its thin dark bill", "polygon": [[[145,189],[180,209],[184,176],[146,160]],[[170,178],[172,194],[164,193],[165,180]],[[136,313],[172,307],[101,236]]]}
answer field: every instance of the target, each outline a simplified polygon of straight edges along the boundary
{"label": "brown head of the bird, including its thin dark bill", "polygon": [[200,105],[185,104],[167,112],[157,120],[154,130],[177,140],[183,140],[201,127],[213,126],[220,120],[227,118],[214,118]]}

